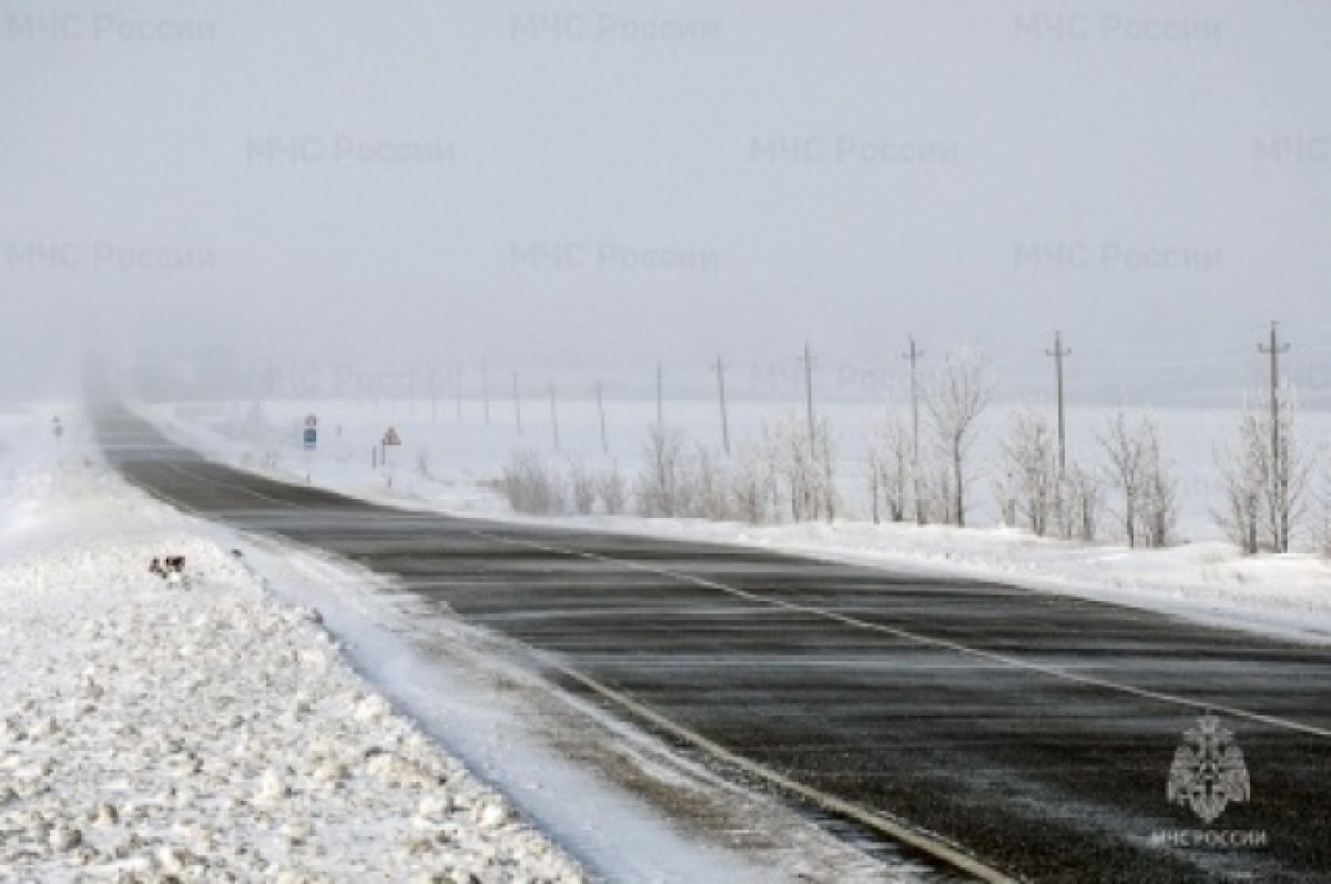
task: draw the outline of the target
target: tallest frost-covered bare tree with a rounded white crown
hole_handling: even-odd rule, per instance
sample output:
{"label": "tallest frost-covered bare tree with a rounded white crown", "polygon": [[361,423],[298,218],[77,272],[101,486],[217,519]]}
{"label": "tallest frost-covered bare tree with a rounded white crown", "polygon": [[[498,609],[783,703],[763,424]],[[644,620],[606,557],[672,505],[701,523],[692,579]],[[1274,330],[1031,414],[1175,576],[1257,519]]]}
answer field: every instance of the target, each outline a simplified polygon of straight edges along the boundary
{"label": "tallest frost-covered bare tree with a rounded white crown", "polygon": [[984,359],[972,351],[950,354],[925,397],[933,431],[946,462],[946,478],[938,491],[946,501],[946,518],[966,525],[968,459],[976,442],[980,417],[993,398]]}

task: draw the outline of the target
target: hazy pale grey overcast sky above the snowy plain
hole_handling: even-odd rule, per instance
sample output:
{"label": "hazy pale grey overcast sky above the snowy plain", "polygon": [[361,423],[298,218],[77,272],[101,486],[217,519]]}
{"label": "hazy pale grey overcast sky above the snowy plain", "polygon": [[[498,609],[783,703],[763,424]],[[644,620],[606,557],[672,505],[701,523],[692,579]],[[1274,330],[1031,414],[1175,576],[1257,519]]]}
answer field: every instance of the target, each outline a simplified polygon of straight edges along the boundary
{"label": "hazy pale grey overcast sky above the snowy plain", "polygon": [[[0,0],[0,370],[1331,387],[1331,4]],[[828,369],[831,370],[831,367]],[[885,369],[884,369],[885,370]],[[1167,377],[1167,385],[1155,378]]]}

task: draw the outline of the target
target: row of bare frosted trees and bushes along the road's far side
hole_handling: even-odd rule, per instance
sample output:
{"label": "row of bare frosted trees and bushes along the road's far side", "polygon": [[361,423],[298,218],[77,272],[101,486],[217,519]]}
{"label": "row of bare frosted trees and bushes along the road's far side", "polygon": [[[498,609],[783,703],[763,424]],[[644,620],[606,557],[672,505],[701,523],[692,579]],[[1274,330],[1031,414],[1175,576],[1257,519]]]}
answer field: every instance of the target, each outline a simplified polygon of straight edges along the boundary
{"label": "row of bare frosted trees and bushes along the road's far side", "polygon": [[[1145,547],[1178,539],[1179,483],[1153,417],[1121,410],[1097,427],[1089,450],[1067,458],[1046,413],[1017,407],[997,429],[993,462],[981,470],[976,443],[993,393],[984,359],[962,351],[924,385],[922,407],[886,414],[868,439],[860,477],[874,522],[966,526],[976,498],[988,491],[1004,525],[1038,537],[1113,538]],[[1275,402],[1255,398],[1233,438],[1214,451],[1222,503],[1213,515],[1244,552],[1284,552],[1310,534],[1331,551],[1331,518],[1324,515],[1331,494],[1312,491],[1316,458],[1300,442],[1294,394],[1284,387]],[[828,418],[792,410],[765,422],[733,455],[654,426],[632,477],[618,466],[562,470],[535,453],[519,453],[502,489],[527,513],[832,521],[847,489],[836,466]],[[989,482],[977,490],[981,474]],[[1331,479],[1323,486],[1331,491]],[[1310,525],[1315,509],[1323,515]]]}

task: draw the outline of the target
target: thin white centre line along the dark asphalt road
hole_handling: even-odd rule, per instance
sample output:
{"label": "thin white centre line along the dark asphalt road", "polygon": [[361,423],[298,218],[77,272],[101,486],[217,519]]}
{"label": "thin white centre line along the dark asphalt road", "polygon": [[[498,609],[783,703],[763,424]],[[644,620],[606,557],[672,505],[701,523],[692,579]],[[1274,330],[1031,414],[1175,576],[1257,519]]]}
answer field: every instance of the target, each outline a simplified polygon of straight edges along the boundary
{"label": "thin white centre line along the dark asphalt road", "polygon": [[1226,715],[1233,715],[1234,718],[1246,719],[1250,722],[1258,722],[1280,730],[1295,731],[1300,734],[1311,734],[1314,736],[1322,736],[1331,739],[1331,731],[1312,724],[1304,724],[1302,722],[1294,722],[1290,719],[1278,718],[1274,715],[1264,715],[1262,712],[1251,712],[1248,710],[1240,710],[1233,706],[1222,706],[1217,703],[1203,703],[1202,700],[1194,700],[1186,696],[1178,696],[1177,694],[1165,694],[1161,691],[1151,691],[1149,688],[1134,687],[1131,684],[1122,684],[1119,682],[1111,682],[1109,679],[1097,678],[1094,675],[1078,675],[1077,672],[1069,672],[1067,670],[1061,670],[1053,666],[1045,666],[1042,663],[1034,663],[1030,660],[1022,660],[1020,658],[1008,656],[1006,654],[996,654],[994,651],[985,651],[981,648],[974,648],[968,644],[961,644],[960,642],[952,642],[948,639],[933,638],[930,635],[921,635],[918,632],[910,632],[909,630],[902,630],[893,626],[885,626],[881,623],[869,623],[868,620],[860,620],[847,614],[837,614],[836,611],[828,611],[812,604],[799,604],[796,602],[784,602],[781,599],[773,599],[771,596],[759,595],[756,592],[749,592],[725,583],[719,583],[716,580],[708,580],[707,578],[693,576],[691,574],[680,574],[677,571],[671,571],[668,568],[656,567],[652,564],[643,564],[642,562],[631,562],[627,559],[616,559],[608,555],[600,555],[598,552],[587,552],[584,550],[568,550],[563,547],[550,546],[546,543],[538,543],[535,541],[522,541],[515,538],[504,538],[492,534],[473,533],[478,538],[487,541],[504,543],[508,546],[524,546],[528,549],[542,550],[544,552],[552,552],[558,555],[571,555],[584,559],[591,559],[595,562],[604,562],[607,564],[618,564],[620,567],[632,568],[636,571],[646,571],[648,574],[655,574],[658,576],[664,576],[681,583],[692,583],[709,590],[716,590],[719,592],[727,592],[729,595],[748,599],[751,602],[757,602],[760,604],[767,604],[771,607],[783,608],[787,611],[796,611],[800,614],[808,614],[812,616],[819,616],[828,620],[835,620],[839,623],[845,623],[847,626],[853,626],[860,630],[868,630],[870,632],[881,632],[884,635],[890,635],[893,638],[905,639],[916,644],[926,644],[932,647],[940,647],[948,651],[954,651],[957,654],[964,654],[966,656],[973,656],[977,659],[988,660],[990,663],[998,663],[1010,668],[1028,670],[1032,672],[1040,672],[1055,679],[1062,679],[1065,682],[1073,682],[1077,684],[1083,684],[1087,687],[1097,687],[1107,691],[1117,691],[1121,694],[1129,694],[1133,696],[1139,696],[1147,700],[1155,700],[1159,703],[1167,703],[1170,706],[1181,706],[1191,710],[1211,711],[1211,712],[1225,712]]}

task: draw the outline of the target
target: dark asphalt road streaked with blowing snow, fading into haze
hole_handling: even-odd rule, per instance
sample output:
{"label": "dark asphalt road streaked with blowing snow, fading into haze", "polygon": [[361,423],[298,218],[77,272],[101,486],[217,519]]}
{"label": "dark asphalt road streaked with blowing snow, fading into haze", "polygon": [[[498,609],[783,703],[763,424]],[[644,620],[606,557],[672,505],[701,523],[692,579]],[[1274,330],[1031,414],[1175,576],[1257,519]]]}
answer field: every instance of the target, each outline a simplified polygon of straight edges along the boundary
{"label": "dark asphalt road streaked with blowing snow, fading into haze", "polygon": [[[169,502],[397,576],[1010,875],[1331,880],[1327,648],[992,583],[402,513],[209,463],[122,413],[100,433],[112,463]],[[1210,827],[1166,800],[1202,714],[1187,703],[1221,710],[1251,779],[1251,800]],[[1205,829],[1267,844],[1153,841]]]}

